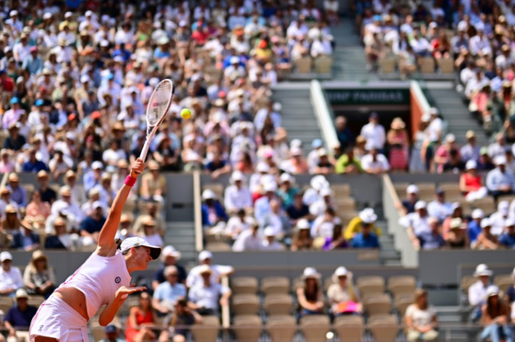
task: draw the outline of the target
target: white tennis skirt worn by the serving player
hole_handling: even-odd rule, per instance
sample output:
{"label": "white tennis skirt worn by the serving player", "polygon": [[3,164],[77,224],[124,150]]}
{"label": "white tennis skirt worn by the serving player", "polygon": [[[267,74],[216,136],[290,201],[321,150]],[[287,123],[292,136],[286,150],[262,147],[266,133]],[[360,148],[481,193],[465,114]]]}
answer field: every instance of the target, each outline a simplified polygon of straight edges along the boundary
{"label": "white tennis skirt worn by the serving player", "polygon": [[46,336],[57,341],[89,342],[87,320],[69,306],[66,301],[52,294],[41,306],[32,319],[30,341],[36,336]]}

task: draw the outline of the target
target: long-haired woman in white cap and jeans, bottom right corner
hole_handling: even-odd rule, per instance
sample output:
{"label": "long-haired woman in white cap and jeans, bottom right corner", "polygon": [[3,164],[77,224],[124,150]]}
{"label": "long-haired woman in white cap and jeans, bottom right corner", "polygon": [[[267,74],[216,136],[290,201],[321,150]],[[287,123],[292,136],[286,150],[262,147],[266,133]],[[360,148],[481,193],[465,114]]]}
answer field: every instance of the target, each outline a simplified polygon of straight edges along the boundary
{"label": "long-haired woman in white cap and jeans, bottom right corner", "polygon": [[510,308],[500,299],[499,287],[488,286],[486,289],[485,303],[481,307],[481,318],[484,329],[481,332],[481,341],[501,341],[504,335],[505,342],[513,342],[513,327],[510,322]]}

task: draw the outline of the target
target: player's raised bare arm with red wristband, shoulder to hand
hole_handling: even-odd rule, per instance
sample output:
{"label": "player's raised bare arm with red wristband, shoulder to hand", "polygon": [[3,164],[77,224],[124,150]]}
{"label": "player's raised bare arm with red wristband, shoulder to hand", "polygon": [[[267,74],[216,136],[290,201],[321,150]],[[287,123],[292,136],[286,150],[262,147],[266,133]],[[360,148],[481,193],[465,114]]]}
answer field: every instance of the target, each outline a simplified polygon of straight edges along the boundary
{"label": "player's raised bare arm with red wristband, shoulder to hand", "polygon": [[118,191],[118,194],[116,194],[111,210],[107,216],[106,223],[104,223],[104,227],[102,227],[99,234],[99,244],[97,248],[98,255],[103,257],[114,255],[116,250],[115,235],[118,230],[118,226],[120,225],[123,206],[125,206],[125,201],[127,201],[129,192],[136,183],[136,178],[141,174],[141,172],[143,172],[144,168],[145,163],[143,160],[140,158],[136,159],[136,162],[134,162],[131,167],[129,176],[125,178],[124,185],[122,185],[122,188]]}

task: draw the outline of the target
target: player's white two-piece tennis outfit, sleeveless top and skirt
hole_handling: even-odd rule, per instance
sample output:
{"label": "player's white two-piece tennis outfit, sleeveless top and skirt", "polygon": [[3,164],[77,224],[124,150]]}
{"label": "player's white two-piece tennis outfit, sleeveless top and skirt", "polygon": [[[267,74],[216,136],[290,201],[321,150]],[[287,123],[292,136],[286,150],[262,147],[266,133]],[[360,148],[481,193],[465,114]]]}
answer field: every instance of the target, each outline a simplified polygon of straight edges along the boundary
{"label": "player's white two-piece tennis outfit, sleeveless top and skirt", "polygon": [[[120,250],[112,257],[94,252],[56,291],[75,287],[86,299],[87,316],[92,318],[108,304],[122,286],[130,285],[131,276]],[[52,294],[38,309],[29,329],[30,341],[47,336],[58,341],[89,342],[87,320],[65,301]]]}

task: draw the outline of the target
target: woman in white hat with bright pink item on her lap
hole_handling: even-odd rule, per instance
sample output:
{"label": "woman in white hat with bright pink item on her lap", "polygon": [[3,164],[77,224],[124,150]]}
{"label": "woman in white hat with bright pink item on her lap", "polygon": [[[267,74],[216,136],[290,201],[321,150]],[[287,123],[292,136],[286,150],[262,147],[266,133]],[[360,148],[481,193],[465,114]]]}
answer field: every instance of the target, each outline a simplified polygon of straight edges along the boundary
{"label": "woman in white hat with bright pink item on her lap", "polygon": [[344,266],[339,266],[332,275],[333,283],[327,289],[327,299],[335,316],[362,312],[360,297],[352,278],[352,273]]}

